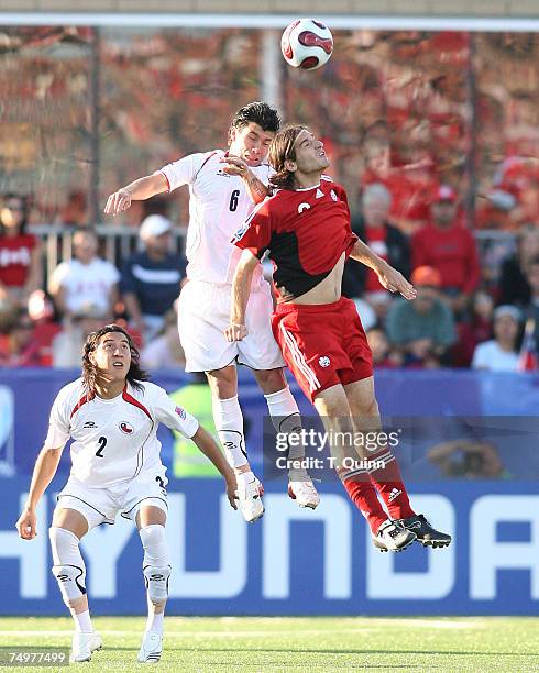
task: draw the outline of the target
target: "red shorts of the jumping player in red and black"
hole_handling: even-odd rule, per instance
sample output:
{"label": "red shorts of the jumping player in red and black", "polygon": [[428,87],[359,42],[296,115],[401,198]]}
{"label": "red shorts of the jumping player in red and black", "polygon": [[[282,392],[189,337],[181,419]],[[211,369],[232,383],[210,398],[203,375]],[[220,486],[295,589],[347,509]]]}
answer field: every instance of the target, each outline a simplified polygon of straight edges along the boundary
{"label": "red shorts of the jumping player in red and black", "polygon": [[311,401],[326,388],[373,375],[371,349],[351,299],[279,304],[272,329],[286,364]]}

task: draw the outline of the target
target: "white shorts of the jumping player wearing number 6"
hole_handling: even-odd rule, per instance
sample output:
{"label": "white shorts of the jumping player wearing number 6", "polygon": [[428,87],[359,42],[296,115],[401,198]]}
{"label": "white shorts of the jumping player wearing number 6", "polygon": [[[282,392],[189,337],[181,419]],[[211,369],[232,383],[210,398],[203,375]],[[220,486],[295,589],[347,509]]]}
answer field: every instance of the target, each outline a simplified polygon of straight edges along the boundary
{"label": "white shorts of the jumping player wearing number 6", "polygon": [[189,280],[179,295],[178,331],[185,352],[186,372],[222,369],[238,361],[253,369],[277,369],[285,361],[272,332],[273,299],[264,283],[251,293],[245,313],[248,335],[230,343],[224,330],[230,323],[231,285]]}

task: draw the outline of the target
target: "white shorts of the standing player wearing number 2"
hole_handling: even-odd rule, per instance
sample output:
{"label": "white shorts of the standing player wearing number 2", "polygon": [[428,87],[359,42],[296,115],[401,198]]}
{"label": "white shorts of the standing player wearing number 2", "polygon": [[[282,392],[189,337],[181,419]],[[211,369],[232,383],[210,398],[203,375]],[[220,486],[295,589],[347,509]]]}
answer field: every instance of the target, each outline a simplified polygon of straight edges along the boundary
{"label": "white shorts of the standing player wearing number 2", "polygon": [[88,530],[100,523],[113,523],[118,512],[135,520],[141,505],[153,505],[168,510],[165,467],[140,474],[130,482],[120,482],[99,488],[87,486],[73,475],[58,494],[56,507],[75,509],[88,521]]}

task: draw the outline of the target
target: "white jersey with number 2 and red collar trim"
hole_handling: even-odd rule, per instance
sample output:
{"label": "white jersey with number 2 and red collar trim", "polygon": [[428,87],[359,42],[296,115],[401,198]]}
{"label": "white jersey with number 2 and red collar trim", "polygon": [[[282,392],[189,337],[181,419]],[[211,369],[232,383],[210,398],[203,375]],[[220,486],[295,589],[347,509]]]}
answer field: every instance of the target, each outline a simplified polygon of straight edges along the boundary
{"label": "white jersey with number 2 and red collar trim", "polygon": [[72,475],[88,486],[108,487],[162,466],[157,427],[164,423],[190,439],[197,419],[151,383],[127,384],[113,399],[85,395],[79,378],[62,388],[51,410],[45,448],[72,444]]}

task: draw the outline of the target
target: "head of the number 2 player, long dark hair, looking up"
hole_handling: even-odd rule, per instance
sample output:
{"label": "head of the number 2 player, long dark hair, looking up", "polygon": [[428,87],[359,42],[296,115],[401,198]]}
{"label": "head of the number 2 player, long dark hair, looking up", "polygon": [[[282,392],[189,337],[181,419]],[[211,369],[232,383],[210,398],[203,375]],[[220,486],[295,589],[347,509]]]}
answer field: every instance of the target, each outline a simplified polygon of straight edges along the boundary
{"label": "head of the number 2 player, long dark hair, looking up", "polygon": [[129,380],[140,388],[148,375],[139,364],[139,350],[130,334],[119,324],[106,324],[91,332],[86,340],[82,355],[82,379],[89,394],[96,393],[100,380]]}

